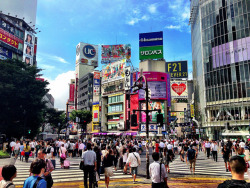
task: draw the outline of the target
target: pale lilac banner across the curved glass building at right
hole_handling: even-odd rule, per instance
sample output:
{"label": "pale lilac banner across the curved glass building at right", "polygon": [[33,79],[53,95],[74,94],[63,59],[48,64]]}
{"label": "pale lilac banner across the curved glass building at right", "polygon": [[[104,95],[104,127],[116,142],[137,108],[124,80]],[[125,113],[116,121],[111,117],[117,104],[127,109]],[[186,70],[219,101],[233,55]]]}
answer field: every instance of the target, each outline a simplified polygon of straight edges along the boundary
{"label": "pale lilac banner across the curved glass building at right", "polygon": [[213,68],[250,60],[250,37],[212,48]]}

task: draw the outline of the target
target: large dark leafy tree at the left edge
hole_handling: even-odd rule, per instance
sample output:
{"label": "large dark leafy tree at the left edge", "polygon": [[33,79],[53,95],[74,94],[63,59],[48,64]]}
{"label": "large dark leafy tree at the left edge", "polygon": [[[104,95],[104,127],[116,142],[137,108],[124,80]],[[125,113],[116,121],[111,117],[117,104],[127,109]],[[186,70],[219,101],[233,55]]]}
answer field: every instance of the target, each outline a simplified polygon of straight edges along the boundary
{"label": "large dark leafy tree at the left edge", "polygon": [[46,108],[42,99],[49,91],[47,81],[36,80],[40,71],[21,61],[0,60],[0,130],[7,137],[38,133]]}

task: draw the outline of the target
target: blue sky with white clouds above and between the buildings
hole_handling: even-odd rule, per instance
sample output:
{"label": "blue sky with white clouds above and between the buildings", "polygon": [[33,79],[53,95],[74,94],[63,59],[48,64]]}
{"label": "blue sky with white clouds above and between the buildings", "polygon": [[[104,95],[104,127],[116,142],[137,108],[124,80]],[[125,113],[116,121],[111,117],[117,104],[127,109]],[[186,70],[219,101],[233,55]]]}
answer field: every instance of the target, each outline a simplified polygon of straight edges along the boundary
{"label": "blue sky with white clouds above and between the buildings", "polygon": [[37,65],[50,82],[55,108],[66,107],[79,42],[131,44],[132,64],[139,67],[139,33],[163,31],[164,59],[188,60],[191,78],[189,15],[188,0],[38,0]]}

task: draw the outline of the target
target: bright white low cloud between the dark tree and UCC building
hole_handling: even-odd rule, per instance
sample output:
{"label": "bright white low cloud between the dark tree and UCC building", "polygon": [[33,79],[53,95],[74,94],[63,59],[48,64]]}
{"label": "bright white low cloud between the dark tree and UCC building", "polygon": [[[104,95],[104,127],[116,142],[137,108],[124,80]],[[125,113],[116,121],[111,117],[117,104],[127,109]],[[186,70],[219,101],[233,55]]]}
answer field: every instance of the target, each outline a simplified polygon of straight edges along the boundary
{"label": "bright white low cloud between the dark tree and UCC building", "polygon": [[49,93],[55,99],[55,108],[65,110],[66,102],[69,98],[69,83],[70,79],[75,78],[75,71],[68,71],[59,74],[54,80],[46,79],[50,83],[48,88]]}

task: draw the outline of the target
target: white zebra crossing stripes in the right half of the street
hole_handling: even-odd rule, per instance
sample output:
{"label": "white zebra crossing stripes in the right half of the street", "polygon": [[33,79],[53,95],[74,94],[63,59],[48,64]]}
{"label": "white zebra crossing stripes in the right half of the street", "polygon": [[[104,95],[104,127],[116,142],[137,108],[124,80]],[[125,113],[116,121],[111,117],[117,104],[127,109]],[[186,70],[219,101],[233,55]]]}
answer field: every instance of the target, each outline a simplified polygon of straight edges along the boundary
{"label": "white zebra crossing stripes in the right half of the street", "polygon": [[[180,156],[176,155],[176,159],[170,163],[170,174],[191,175],[189,162],[187,164],[182,162]],[[218,152],[217,162],[213,160],[213,157],[207,159],[204,152],[199,152],[195,164],[195,175],[232,176],[231,172],[226,172],[225,163],[220,152]],[[245,178],[248,178],[247,173],[245,173]]]}

